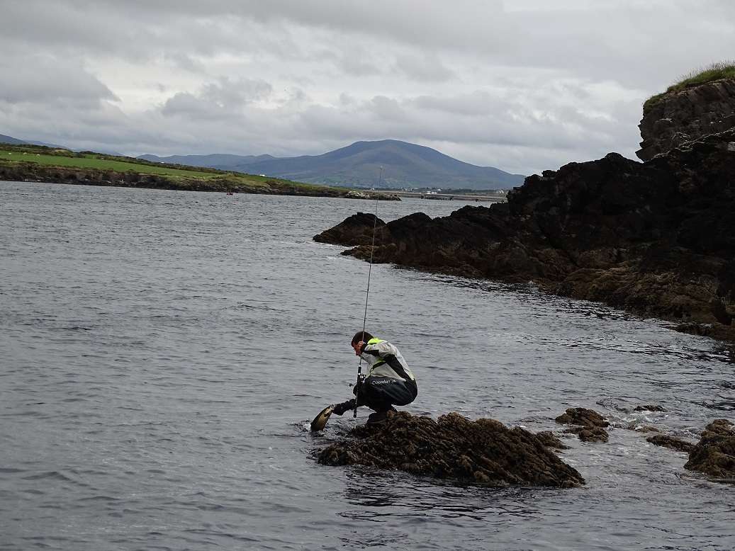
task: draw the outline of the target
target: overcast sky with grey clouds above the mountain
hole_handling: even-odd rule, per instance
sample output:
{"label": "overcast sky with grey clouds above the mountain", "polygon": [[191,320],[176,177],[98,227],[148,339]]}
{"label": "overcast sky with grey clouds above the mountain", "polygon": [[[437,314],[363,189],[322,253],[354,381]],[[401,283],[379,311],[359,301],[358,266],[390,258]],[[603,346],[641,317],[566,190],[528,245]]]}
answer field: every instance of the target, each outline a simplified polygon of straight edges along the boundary
{"label": "overcast sky with grey clouds above the mountain", "polygon": [[635,158],[735,57],[731,0],[0,0],[0,134],[140,154],[395,139],[512,173]]}

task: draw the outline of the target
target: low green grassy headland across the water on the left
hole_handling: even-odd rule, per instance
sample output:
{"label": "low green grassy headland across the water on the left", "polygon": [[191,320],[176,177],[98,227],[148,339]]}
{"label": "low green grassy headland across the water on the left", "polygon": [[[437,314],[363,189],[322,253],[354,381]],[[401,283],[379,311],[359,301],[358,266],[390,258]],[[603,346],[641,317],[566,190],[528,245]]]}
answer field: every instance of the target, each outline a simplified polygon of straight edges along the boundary
{"label": "low green grassy headland across the water on the left", "polygon": [[340,197],[348,190],[41,145],[0,145],[0,180]]}

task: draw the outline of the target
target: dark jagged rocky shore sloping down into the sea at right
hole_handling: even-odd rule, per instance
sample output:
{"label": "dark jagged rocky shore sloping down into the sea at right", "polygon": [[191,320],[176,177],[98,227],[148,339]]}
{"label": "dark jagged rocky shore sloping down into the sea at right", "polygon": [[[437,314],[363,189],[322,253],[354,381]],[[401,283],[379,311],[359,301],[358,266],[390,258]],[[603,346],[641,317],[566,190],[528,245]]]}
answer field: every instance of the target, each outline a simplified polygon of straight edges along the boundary
{"label": "dark jagged rocky shore sloping down into the sea at right", "polygon": [[[466,206],[436,219],[417,213],[378,220],[373,262],[530,280],[545,292],[735,340],[735,101],[723,100],[729,90],[735,82],[702,84],[650,107],[641,123],[645,150],[676,146],[646,162],[612,153],[529,176],[505,204]],[[692,98],[699,107],[686,111]],[[717,100],[711,109],[709,98]],[[694,139],[660,140],[653,148],[648,128],[673,113],[673,127]],[[695,120],[705,130],[692,130]],[[357,214],[314,239],[352,247],[345,253],[365,259],[372,231],[373,216]]]}

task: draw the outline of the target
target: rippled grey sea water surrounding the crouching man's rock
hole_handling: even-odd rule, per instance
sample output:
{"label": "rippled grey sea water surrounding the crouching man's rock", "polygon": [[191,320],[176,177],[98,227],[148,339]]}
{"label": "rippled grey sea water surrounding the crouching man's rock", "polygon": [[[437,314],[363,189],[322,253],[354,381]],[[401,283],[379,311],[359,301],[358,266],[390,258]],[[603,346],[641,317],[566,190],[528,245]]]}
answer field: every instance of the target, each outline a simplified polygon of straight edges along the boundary
{"label": "rippled grey sea water surrounding the crouching man's rock", "polygon": [[[463,205],[381,201],[378,215]],[[0,182],[0,549],[735,548],[735,485],[635,430],[696,442],[734,420],[733,345],[533,281],[376,264],[367,329],[417,376],[401,409],[556,431],[584,487],[318,464],[369,413],[309,431],[351,397],[369,265],[312,236],[374,209]],[[631,411],[649,404],[666,411]],[[570,407],[607,417],[609,442],[561,433]]]}

